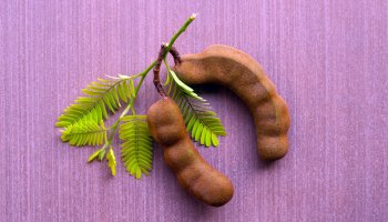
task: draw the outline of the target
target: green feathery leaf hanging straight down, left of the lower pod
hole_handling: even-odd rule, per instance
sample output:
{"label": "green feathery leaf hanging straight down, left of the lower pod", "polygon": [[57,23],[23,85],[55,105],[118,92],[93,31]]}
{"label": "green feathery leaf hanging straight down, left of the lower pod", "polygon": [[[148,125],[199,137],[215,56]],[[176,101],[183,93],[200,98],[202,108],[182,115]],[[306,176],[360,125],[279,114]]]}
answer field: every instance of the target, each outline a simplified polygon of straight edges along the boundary
{"label": "green feathery leaf hanging straight down, left of the lower pod", "polygon": [[152,138],[145,115],[125,115],[119,129],[121,158],[126,171],[135,179],[149,175],[152,169]]}

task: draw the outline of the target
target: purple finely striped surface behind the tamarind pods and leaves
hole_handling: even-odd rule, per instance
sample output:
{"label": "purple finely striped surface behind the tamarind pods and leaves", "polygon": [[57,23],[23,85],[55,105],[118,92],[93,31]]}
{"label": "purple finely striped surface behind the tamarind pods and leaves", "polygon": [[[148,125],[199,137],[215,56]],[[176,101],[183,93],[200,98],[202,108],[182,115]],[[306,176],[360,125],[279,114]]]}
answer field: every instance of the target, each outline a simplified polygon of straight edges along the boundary
{"label": "purple finely striped surface behind the tamarind pods and leaves", "polygon": [[[89,82],[143,70],[192,12],[180,51],[246,51],[292,115],[290,151],[267,165],[238,98],[196,88],[228,132],[219,149],[200,148],[235,185],[219,209],[177,185],[159,147],[150,176],[119,161],[112,178],[105,162],[85,163],[94,148],[70,148],[53,128]],[[387,14],[386,0],[1,1],[0,220],[388,221]],[[159,99],[151,79],[139,113]]]}

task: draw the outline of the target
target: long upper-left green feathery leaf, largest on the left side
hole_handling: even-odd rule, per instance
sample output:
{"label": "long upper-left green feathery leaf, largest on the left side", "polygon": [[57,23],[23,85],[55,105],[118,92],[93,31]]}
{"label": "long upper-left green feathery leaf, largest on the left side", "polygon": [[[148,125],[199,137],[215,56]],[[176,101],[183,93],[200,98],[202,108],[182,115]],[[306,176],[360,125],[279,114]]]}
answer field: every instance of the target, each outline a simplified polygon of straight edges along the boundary
{"label": "long upper-left green feathery leaf, largest on the left side", "polygon": [[133,80],[126,75],[120,78],[98,79],[82,92],[74,104],[64,109],[64,113],[58,118],[55,127],[68,128],[83,119],[100,122],[108,119],[108,111],[114,113],[121,107],[121,102],[127,103],[133,97]]}

